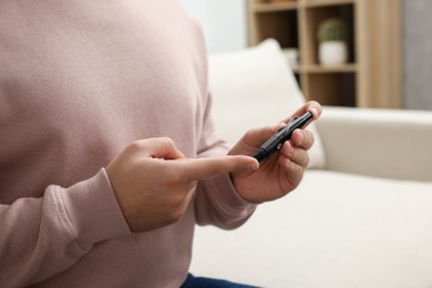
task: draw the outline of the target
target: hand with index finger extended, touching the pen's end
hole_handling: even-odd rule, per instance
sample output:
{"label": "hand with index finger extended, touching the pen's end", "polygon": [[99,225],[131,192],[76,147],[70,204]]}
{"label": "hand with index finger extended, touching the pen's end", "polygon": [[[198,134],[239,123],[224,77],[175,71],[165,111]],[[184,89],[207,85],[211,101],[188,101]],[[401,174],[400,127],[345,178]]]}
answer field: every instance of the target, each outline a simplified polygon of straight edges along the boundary
{"label": "hand with index finger extended, touching the pen's end", "polygon": [[177,222],[191,202],[196,182],[220,173],[258,168],[248,156],[189,160],[167,137],[130,144],[106,167],[106,174],[132,232]]}

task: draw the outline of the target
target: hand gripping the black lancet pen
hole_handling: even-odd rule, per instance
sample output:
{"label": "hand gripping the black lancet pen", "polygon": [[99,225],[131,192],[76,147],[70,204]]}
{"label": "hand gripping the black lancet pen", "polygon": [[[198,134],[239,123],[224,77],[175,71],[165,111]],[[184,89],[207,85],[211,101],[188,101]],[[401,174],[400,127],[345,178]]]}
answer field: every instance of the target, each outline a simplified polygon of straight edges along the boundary
{"label": "hand gripping the black lancet pen", "polygon": [[[322,109],[319,103],[306,103],[295,115],[310,111],[317,120]],[[263,143],[271,137],[292,117],[269,127],[248,131],[230,151],[232,155],[251,155]],[[290,141],[261,164],[259,169],[232,172],[232,178],[241,197],[249,202],[261,203],[280,198],[295,189],[309,163],[308,150],[313,144],[313,135],[306,130],[296,130]]]}

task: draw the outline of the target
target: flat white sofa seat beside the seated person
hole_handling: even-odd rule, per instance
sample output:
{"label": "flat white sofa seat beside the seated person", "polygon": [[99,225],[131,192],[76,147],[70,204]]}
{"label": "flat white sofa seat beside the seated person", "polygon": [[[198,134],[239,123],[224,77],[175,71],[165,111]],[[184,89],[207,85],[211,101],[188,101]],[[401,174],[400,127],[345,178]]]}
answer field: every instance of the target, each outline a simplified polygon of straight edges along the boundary
{"label": "flat white sofa seat beside the seated person", "polygon": [[191,271],[263,287],[431,287],[432,183],[307,171],[243,227],[196,230]]}

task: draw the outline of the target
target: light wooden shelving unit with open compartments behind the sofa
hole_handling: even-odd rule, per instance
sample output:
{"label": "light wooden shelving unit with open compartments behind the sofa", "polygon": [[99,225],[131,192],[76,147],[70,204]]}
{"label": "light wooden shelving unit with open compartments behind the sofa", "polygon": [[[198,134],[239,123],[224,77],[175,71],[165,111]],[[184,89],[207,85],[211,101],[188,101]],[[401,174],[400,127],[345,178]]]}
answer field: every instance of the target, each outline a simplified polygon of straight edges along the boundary
{"label": "light wooden shelving unit with open compartments behind the sofa", "polygon": [[[401,107],[400,0],[248,0],[249,44],[268,38],[296,48],[294,68],[308,100],[323,105]],[[318,63],[317,29],[327,18],[348,29],[348,63]]]}

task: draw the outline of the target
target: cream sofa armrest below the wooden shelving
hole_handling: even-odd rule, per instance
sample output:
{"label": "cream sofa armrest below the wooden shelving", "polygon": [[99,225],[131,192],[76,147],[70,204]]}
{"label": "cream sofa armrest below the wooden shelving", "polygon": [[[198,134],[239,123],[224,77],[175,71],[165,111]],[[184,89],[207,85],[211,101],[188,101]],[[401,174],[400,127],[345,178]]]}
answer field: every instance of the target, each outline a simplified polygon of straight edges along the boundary
{"label": "cream sofa armrest below the wooden shelving", "polygon": [[432,182],[432,113],[323,107],[317,121],[327,169]]}

